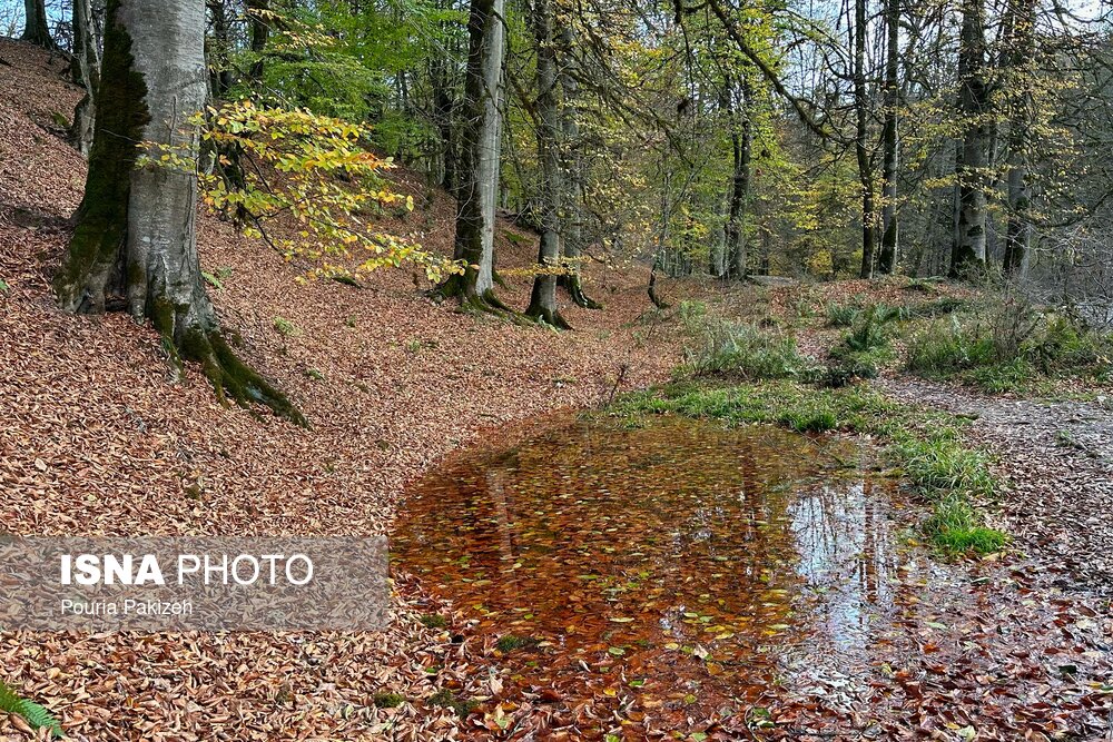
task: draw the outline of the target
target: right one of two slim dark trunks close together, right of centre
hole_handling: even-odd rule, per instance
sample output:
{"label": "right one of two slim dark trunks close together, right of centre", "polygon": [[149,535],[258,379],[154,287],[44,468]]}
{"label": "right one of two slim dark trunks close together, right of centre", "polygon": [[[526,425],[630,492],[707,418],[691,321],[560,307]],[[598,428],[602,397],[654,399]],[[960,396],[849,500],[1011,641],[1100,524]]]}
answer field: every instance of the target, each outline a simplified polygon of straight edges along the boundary
{"label": "right one of two slim dark trunks close together, right of centre", "polygon": [[900,86],[897,68],[900,63],[900,8],[897,0],[886,1],[885,13],[885,122],[881,132],[881,250],[877,257],[877,270],[890,275],[896,268],[900,229],[897,222],[897,108],[900,103]]}

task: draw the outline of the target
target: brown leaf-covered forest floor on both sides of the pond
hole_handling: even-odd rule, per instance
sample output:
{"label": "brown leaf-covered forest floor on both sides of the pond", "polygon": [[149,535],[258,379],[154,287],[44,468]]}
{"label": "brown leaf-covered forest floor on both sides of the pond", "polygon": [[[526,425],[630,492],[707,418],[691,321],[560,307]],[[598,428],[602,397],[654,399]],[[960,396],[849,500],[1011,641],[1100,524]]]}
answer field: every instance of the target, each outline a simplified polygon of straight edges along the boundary
{"label": "brown leaf-covered forest floor on both sides of the pond", "polygon": [[[639,265],[592,267],[589,286],[605,310],[569,309],[577,329],[556,334],[435,305],[417,290],[421,280],[403,271],[362,289],[303,285],[295,280],[301,267],[203,216],[201,260],[219,278],[210,293],[221,321],[313,429],[221,407],[196,370],[180,384],[167,382],[149,328],[119,315],[55,309],[49,280],[85,178],[56,113],[68,116],[78,93],[62,79],[60,60],[26,44],[0,40],[0,59],[10,65],[0,66],[6,531],[387,533],[406,485],[450,451],[515,422],[664,382],[680,360],[678,324],[651,310],[648,271]],[[447,250],[451,222],[452,206],[439,196],[392,228]],[[533,236],[510,224],[499,231],[503,267],[532,261]],[[749,290],[662,287],[674,303],[696,297],[728,307],[751,303]],[[791,314],[797,287],[761,290],[771,296],[771,311]],[[821,290],[884,299],[898,289],[848,281]],[[524,306],[528,296],[528,279],[511,277],[504,300]],[[801,343],[821,355],[830,338],[804,328]],[[1111,645],[1109,598],[1101,594],[1113,568],[1107,400],[993,399],[900,375],[877,385],[912,403],[977,416],[971,443],[999,454],[1009,486],[992,517],[1017,546],[963,565],[969,600],[932,614],[932,624],[951,626],[943,636],[922,621],[909,625],[903,664],[867,669],[857,695],[837,679],[798,689],[780,701],[780,731],[828,740],[1113,735],[1095,721],[1106,713],[1111,676],[1094,680],[1107,671]],[[522,699],[500,703],[498,653],[459,625],[424,625],[424,614],[451,609],[406,575],[396,578],[395,619],[383,633],[4,632],[3,679],[53,709],[78,740],[424,741],[542,729],[525,716],[548,712]],[[444,690],[486,699],[498,723],[437,705]],[[378,708],[383,694],[406,702]],[[765,733],[750,721],[708,726],[691,739]],[[23,730],[10,716],[0,739],[31,736]],[[533,735],[574,739],[575,732]]]}

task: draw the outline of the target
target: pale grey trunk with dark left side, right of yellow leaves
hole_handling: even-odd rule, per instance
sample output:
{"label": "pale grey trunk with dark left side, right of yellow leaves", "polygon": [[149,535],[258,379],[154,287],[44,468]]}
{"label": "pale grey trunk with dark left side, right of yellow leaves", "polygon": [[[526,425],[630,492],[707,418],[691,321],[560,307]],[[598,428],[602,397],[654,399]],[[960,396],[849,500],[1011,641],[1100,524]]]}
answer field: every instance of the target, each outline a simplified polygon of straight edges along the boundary
{"label": "pale grey trunk with dark left side, right of yellow leaves", "polygon": [[505,309],[494,295],[494,224],[502,145],[504,0],[472,0],[467,20],[463,137],[454,257],[465,264],[440,287],[441,296],[481,309]]}

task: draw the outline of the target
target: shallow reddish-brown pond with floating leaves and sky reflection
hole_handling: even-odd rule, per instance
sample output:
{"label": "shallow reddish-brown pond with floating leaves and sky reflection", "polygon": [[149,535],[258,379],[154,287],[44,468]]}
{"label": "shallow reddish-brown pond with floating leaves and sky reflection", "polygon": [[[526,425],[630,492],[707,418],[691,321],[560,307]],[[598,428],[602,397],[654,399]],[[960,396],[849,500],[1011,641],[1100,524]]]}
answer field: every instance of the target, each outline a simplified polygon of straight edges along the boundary
{"label": "shallow reddish-brown pond with floating leaves and sky reflection", "polygon": [[767,426],[577,422],[424,477],[393,558],[502,637],[525,698],[581,700],[597,733],[752,713],[787,676],[860,664],[930,568],[871,458]]}

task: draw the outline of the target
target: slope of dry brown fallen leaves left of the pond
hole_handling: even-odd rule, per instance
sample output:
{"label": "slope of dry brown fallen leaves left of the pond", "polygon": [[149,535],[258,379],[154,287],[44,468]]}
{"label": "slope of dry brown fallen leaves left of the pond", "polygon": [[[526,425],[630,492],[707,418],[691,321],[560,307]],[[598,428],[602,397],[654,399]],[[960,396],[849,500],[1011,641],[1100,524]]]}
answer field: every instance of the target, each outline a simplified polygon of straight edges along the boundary
{"label": "slope of dry brown fallen leaves left of the pond", "polygon": [[[667,343],[636,335],[648,308],[641,275],[610,275],[608,289],[593,284],[607,310],[569,309],[578,330],[558,335],[436,306],[402,271],[363,290],[299,285],[280,257],[203,216],[201,260],[223,277],[211,290],[223,323],[313,429],[224,408],[197,369],[168,382],[149,328],[55,308],[49,281],[85,164],[53,115],[69,115],[78,92],[59,61],[26,44],[0,41],[0,59],[10,63],[0,66],[4,530],[383,533],[406,481],[481,429],[592,404],[620,367],[624,385],[643,385],[677,360]],[[412,230],[446,249],[451,216],[441,196]],[[522,236],[503,243],[503,265],[534,249]],[[521,278],[504,294],[514,306],[528,296]],[[467,652],[414,620],[414,595],[403,588],[385,634],[4,633],[0,659],[6,680],[56,709],[76,739],[358,739],[384,724],[396,739],[436,739],[456,723],[451,713],[372,703],[381,691],[427,699],[450,681],[470,682],[454,680]],[[443,670],[431,675],[432,665]],[[0,723],[0,736],[12,730]]]}

